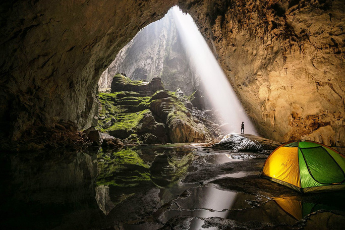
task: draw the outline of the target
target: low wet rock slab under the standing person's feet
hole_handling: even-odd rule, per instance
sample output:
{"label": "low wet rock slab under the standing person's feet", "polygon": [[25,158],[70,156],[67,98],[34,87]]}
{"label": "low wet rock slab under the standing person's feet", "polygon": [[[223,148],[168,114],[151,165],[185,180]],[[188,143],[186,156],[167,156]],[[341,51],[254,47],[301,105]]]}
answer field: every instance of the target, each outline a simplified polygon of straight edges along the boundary
{"label": "low wet rock slab under the standing person's feet", "polygon": [[228,134],[214,148],[235,151],[274,150],[280,143],[251,134]]}

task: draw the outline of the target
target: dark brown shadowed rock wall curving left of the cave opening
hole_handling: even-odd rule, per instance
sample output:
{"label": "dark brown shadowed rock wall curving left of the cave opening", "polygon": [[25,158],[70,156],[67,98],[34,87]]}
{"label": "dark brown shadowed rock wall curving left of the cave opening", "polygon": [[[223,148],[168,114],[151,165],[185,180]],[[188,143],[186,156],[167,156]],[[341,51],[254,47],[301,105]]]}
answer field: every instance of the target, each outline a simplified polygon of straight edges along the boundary
{"label": "dark brown shadowed rock wall curving left of the cave opening", "polygon": [[96,124],[98,78],[176,1],[2,1],[0,137],[56,120]]}

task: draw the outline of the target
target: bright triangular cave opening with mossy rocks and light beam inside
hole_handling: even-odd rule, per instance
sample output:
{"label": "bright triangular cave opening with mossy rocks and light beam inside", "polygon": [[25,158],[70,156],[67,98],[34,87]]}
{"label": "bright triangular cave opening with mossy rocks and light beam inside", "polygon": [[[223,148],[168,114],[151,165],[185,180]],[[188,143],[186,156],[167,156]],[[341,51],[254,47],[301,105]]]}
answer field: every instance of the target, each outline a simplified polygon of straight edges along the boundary
{"label": "bright triangular cave opening with mossy rocks and light beam inside", "polygon": [[[175,136],[173,132],[176,130],[169,123],[169,114],[161,114],[159,109],[147,102],[159,94],[154,90],[148,92],[153,88],[167,91],[165,96],[160,95],[162,98],[176,96],[175,104],[172,103],[174,106],[166,108],[160,105],[159,109],[181,110],[177,107],[179,103],[183,104],[187,108],[186,119],[192,120],[187,123],[193,128],[204,125],[196,129],[198,132],[203,129],[210,131],[206,135],[208,137],[239,133],[242,122],[246,125],[246,133],[257,134],[192,17],[177,6],[172,7],[162,19],[141,29],[102,73],[98,81],[101,109],[97,129],[134,141],[138,140],[138,132],[145,133],[145,143],[150,143],[146,139],[152,132],[154,137],[151,139],[159,139],[153,143],[205,140],[202,135],[170,138]],[[204,116],[210,117],[208,121]],[[151,122],[163,124],[159,125],[160,133],[142,128],[146,117],[150,117]],[[183,117],[179,119],[185,121]],[[211,128],[214,124],[217,127]],[[167,129],[166,137],[163,126]],[[164,138],[157,138],[158,134]]]}

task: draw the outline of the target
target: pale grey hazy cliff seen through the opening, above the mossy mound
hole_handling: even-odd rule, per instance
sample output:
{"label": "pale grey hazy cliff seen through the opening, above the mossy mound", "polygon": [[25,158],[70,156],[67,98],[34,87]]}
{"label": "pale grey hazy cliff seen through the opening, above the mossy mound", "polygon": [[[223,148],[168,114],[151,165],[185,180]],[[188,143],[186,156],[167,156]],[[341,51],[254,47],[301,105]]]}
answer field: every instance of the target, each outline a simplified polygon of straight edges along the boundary
{"label": "pale grey hazy cliff seen through the opening, above the mossy mound", "polygon": [[112,77],[124,73],[131,80],[151,81],[160,77],[170,91],[181,88],[186,95],[194,92],[195,69],[189,59],[177,31],[171,11],[159,21],[143,28],[102,73],[99,90],[110,88]]}

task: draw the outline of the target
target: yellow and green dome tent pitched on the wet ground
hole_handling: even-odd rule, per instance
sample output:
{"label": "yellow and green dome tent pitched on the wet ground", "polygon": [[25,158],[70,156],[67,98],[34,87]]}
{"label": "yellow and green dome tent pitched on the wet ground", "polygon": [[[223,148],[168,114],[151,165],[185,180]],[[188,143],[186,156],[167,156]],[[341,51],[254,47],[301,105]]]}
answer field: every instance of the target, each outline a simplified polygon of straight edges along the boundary
{"label": "yellow and green dome tent pitched on the wet ground", "polygon": [[345,189],[345,156],[314,141],[294,141],[276,148],[261,177],[301,193]]}

